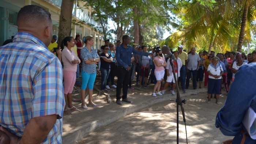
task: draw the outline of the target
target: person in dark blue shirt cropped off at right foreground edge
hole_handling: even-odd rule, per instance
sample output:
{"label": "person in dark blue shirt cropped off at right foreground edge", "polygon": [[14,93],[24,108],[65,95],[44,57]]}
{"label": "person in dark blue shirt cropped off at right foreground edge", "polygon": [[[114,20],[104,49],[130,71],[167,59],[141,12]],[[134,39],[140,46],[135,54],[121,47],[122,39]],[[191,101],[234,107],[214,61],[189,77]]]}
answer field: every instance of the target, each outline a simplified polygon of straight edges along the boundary
{"label": "person in dark blue shirt cropped off at right foreground edge", "polygon": [[[241,66],[232,82],[224,106],[219,110],[215,126],[225,136],[234,136],[232,144],[255,144],[243,124],[246,111],[251,107],[256,111],[256,63]],[[253,116],[252,116],[253,117]],[[253,120],[254,121],[254,120]]]}

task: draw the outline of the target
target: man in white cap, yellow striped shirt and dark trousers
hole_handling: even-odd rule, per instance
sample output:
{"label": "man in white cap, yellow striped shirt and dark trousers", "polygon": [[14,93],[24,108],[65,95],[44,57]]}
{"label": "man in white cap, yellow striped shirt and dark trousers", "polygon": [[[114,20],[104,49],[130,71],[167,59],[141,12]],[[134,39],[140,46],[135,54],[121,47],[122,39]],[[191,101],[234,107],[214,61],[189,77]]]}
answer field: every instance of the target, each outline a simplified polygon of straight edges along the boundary
{"label": "man in white cap, yellow striped shirt and dark trousers", "polygon": [[186,79],[186,63],[188,61],[188,54],[186,52],[183,52],[183,46],[178,45],[178,58],[181,59],[182,66],[180,68],[180,82],[181,82],[181,87],[182,91],[185,91],[185,79]]}

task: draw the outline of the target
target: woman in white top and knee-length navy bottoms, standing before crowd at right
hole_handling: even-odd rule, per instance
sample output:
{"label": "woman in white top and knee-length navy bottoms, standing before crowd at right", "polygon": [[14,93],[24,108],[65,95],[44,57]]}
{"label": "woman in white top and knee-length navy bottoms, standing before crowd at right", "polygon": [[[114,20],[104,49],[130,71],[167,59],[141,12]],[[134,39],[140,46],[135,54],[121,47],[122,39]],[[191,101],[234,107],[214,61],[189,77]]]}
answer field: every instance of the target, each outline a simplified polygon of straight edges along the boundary
{"label": "woman in white top and knee-length navy bottoms, standing before crowd at right", "polygon": [[219,93],[221,89],[221,78],[223,74],[223,68],[219,64],[219,58],[213,57],[212,63],[209,64],[207,73],[209,75],[208,78],[208,101],[211,101],[211,95],[216,94],[216,103],[219,105]]}

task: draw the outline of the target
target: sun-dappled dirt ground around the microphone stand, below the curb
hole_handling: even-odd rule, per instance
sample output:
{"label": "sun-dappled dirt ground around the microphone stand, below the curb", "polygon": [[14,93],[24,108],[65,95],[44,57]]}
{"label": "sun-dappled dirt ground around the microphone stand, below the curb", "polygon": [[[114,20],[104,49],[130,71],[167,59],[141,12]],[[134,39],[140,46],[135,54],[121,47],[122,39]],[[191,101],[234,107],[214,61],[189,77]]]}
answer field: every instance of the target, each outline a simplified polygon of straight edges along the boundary
{"label": "sun-dappled dirt ground around the microphone stand, below the curb", "polygon": [[[222,90],[220,105],[206,103],[207,93],[184,96],[184,106],[189,144],[220,144],[233,137],[224,136],[215,128],[215,117],[223,106],[226,92]],[[180,107],[179,107],[180,110]],[[129,114],[116,122],[90,133],[79,144],[176,144],[176,103],[166,101]],[[179,143],[186,143],[185,125],[179,111]]]}

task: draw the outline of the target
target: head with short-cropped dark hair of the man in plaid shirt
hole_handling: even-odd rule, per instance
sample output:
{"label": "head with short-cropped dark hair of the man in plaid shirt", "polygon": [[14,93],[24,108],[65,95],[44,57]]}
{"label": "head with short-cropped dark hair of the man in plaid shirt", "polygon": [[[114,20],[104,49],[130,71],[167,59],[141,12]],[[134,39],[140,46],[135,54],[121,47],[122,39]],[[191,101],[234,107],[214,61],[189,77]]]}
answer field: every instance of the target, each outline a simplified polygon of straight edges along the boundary
{"label": "head with short-cropped dark hair of the man in plaid shirt", "polygon": [[20,9],[17,18],[18,31],[30,33],[46,46],[52,40],[52,19],[49,11],[38,5],[26,5]]}

